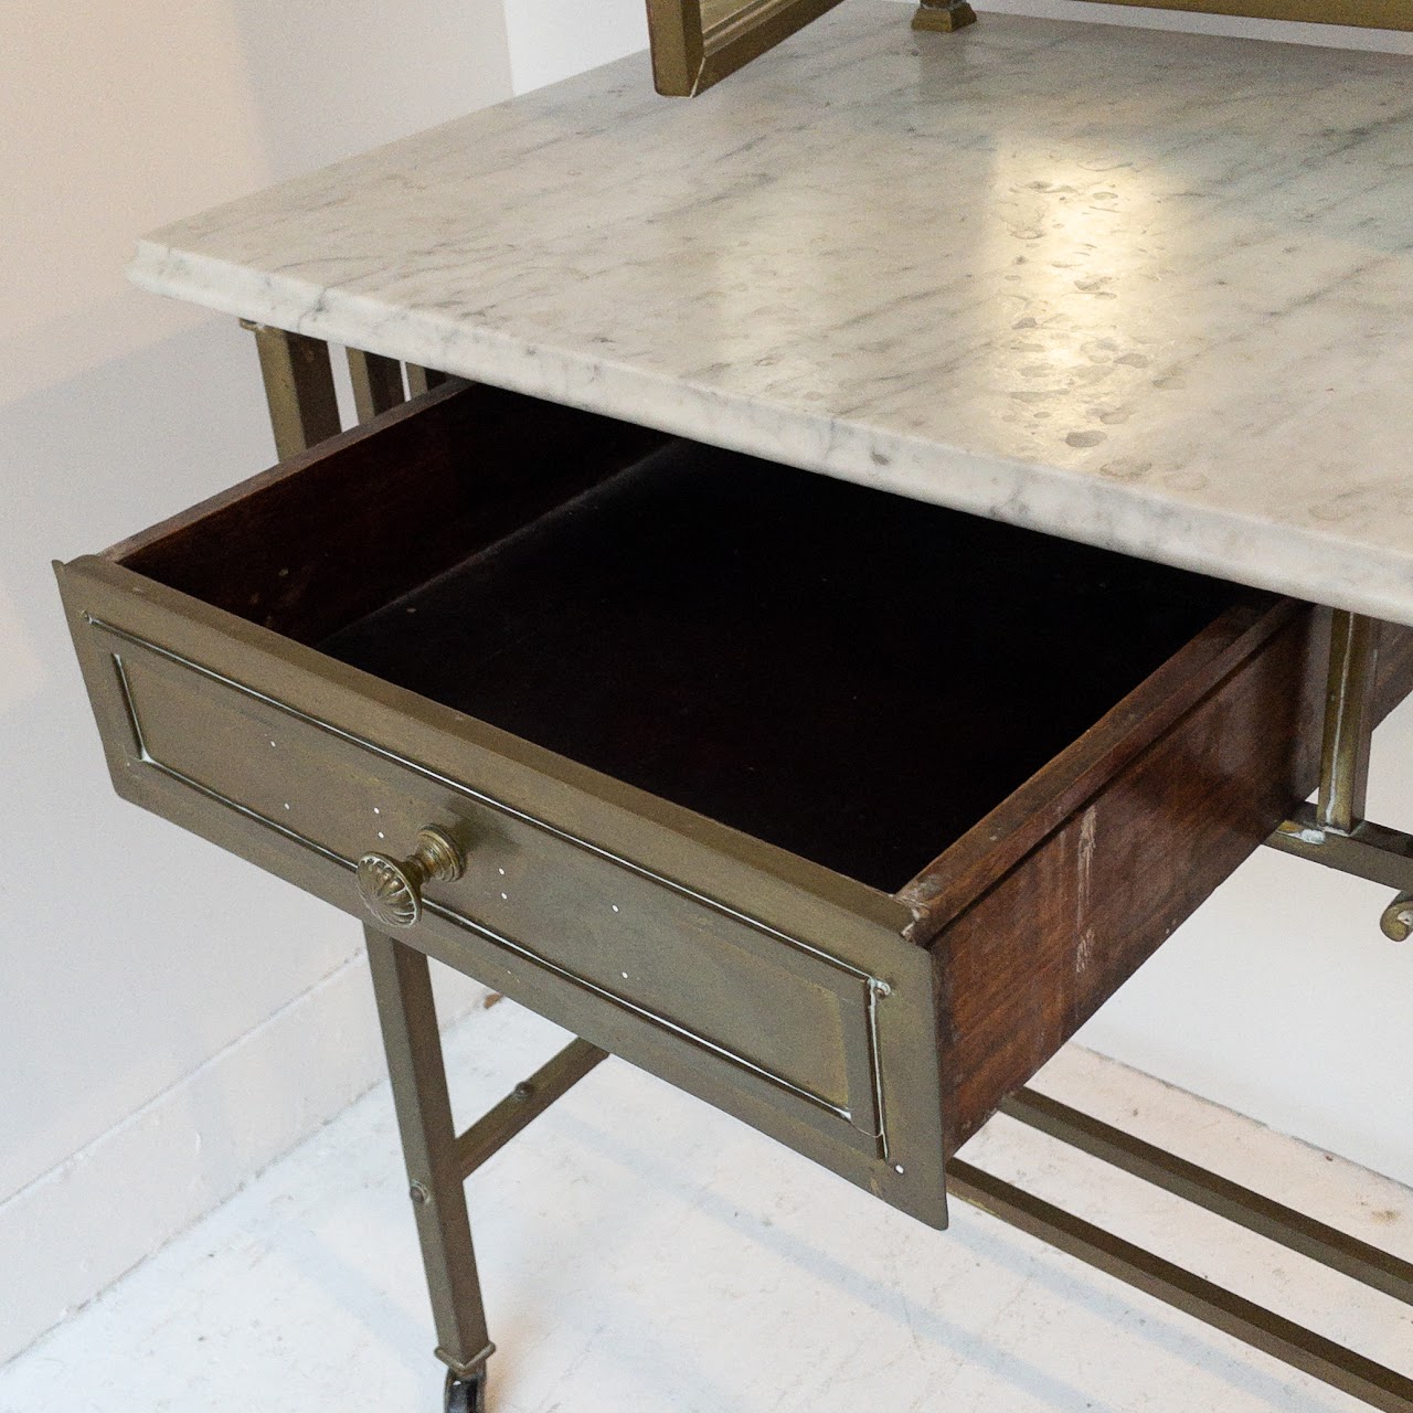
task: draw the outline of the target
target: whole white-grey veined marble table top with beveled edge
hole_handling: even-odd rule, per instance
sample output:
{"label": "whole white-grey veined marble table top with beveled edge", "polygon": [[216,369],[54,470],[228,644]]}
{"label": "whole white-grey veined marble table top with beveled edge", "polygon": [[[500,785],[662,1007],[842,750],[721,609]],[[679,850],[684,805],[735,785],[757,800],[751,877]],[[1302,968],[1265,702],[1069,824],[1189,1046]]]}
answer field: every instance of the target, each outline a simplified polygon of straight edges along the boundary
{"label": "whole white-grey veined marble table top with beveled edge", "polygon": [[692,100],[626,59],[131,276],[1413,623],[1413,61],[907,18],[851,0]]}

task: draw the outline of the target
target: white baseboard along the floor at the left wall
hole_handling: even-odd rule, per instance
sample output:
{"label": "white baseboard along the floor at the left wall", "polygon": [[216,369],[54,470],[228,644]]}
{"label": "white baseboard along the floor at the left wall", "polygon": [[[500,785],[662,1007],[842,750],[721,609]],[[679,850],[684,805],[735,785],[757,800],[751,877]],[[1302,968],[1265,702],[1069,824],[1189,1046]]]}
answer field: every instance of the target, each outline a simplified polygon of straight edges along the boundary
{"label": "white baseboard along the floor at the left wall", "polygon": [[[485,991],[438,976],[444,1023]],[[0,1202],[0,1364],[86,1304],[384,1074],[359,952]]]}

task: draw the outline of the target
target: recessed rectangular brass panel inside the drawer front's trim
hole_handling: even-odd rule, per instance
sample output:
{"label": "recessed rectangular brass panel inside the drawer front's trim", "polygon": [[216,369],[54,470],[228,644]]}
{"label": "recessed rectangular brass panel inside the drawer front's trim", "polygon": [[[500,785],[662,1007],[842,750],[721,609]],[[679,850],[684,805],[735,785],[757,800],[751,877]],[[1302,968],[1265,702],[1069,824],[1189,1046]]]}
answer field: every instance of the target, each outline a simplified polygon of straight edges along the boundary
{"label": "recessed rectangular brass panel inside the drawer front's trim", "polygon": [[870,991],[855,968],[155,644],[95,632],[143,763],[341,865],[349,911],[363,913],[362,853],[408,853],[438,824],[468,866],[427,886],[428,911],[877,1135]]}

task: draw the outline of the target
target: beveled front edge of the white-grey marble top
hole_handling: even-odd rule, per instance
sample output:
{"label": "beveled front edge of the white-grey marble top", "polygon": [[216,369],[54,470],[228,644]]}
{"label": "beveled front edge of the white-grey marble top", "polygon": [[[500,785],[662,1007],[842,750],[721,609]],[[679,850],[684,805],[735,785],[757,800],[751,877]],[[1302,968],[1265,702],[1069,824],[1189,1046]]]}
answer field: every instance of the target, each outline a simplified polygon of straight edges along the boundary
{"label": "beveled front edge of the white-grey marble top", "polygon": [[[438,321],[427,311],[302,284],[138,242],[134,284],[220,314],[437,367],[753,456],[876,486],[1251,588],[1413,625],[1413,551],[1255,516],[1183,506],[1171,493],[1056,466],[975,455],[831,417],[776,408],[574,350]],[[940,476],[941,473],[941,476]],[[945,478],[945,479],[941,479]]]}

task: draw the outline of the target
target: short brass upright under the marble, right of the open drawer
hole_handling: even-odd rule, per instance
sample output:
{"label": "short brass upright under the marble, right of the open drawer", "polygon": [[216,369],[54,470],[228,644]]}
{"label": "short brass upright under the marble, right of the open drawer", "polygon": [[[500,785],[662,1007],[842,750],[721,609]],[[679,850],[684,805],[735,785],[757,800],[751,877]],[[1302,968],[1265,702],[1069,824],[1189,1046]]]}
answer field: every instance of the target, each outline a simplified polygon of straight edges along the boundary
{"label": "short brass upright under the marble, right of the open drawer", "polygon": [[1349,834],[1364,820],[1378,634],[1373,619],[1334,610],[1316,820],[1335,834]]}

